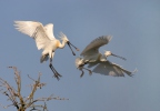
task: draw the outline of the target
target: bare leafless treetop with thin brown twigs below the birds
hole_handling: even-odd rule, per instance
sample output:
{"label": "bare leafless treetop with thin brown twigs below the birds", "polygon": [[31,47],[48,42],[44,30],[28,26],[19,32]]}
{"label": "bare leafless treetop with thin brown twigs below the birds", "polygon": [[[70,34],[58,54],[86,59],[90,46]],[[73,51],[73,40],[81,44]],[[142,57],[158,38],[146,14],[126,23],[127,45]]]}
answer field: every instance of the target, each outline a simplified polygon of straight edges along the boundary
{"label": "bare leafless treetop with thin brown twigs below the birds", "polygon": [[[29,74],[28,78],[31,79],[34,83],[30,84],[31,92],[29,94],[28,98],[22,98],[21,95],[21,75],[20,72],[17,70],[16,67],[9,67],[11,69],[13,69],[14,71],[14,80],[17,83],[17,89],[14,89],[13,87],[11,87],[6,80],[0,78],[0,92],[6,95],[8,98],[9,101],[12,102],[12,104],[9,104],[7,107],[0,104],[0,107],[7,109],[8,107],[14,105],[17,108],[18,111],[26,111],[27,109],[31,109],[30,111],[41,111],[39,109],[42,109],[43,111],[48,111],[47,109],[47,104],[46,101],[50,101],[50,100],[69,100],[69,99],[64,99],[64,98],[59,98],[59,97],[53,97],[53,94],[51,94],[48,98],[38,98],[38,99],[33,99],[34,93],[37,91],[38,88],[42,88],[44,87],[47,83],[41,83],[40,82],[40,77],[42,75],[41,73],[39,73],[39,77],[37,80],[32,79]],[[44,104],[34,104],[38,102],[44,102]]]}

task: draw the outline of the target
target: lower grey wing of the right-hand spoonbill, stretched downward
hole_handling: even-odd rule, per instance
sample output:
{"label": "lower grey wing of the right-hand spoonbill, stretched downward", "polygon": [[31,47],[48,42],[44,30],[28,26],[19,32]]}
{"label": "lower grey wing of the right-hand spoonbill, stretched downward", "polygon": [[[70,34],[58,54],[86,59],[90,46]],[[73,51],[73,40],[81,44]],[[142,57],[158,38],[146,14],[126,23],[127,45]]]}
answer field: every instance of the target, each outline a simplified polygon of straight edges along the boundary
{"label": "lower grey wing of the right-hand spoonbill, stretched downward", "polygon": [[92,72],[104,74],[104,75],[113,75],[113,77],[124,77],[124,73],[127,73],[128,75],[131,77],[133,73],[133,72],[128,71],[128,70],[121,68],[120,65],[109,62],[109,61],[99,63],[92,70]]}

